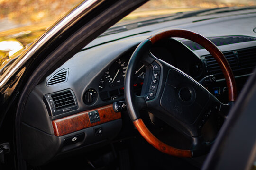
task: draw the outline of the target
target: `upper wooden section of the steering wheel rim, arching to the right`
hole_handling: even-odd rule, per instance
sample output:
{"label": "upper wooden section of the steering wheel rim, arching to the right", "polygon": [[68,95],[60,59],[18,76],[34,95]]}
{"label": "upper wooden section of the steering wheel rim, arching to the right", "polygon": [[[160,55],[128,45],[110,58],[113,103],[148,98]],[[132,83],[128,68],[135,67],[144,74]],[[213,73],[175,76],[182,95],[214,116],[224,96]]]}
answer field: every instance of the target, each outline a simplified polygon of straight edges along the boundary
{"label": "upper wooden section of the steering wheel rim, arching to the right", "polygon": [[231,68],[229,67],[229,63],[227,59],[224,57],[223,53],[219,51],[219,49],[212,43],[210,40],[205,38],[204,36],[194,33],[192,31],[183,30],[183,29],[172,29],[160,33],[156,33],[148,39],[154,44],[161,39],[171,38],[171,37],[179,37],[191,40],[193,42],[197,42],[202,47],[204,47],[210,54],[216,59],[218,62],[224,77],[226,79],[226,84],[228,87],[228,95],[229,101],[235,101],[237,98],[237,86],[235,82],[235,78]]}

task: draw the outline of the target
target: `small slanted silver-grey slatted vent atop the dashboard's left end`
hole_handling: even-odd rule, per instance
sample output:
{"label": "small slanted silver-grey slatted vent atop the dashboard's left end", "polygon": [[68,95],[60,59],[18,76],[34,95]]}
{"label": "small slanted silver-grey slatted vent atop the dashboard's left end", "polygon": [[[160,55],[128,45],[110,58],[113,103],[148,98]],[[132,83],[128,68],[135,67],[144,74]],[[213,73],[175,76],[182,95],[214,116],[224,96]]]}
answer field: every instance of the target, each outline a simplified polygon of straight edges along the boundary
{"label": "small slanted silver-grey slatted vent atop the dashboard's left end", "polygon": [[64,68],[52,76],[46,83],[46,86],[64,83],[68,79],[68,68]]}

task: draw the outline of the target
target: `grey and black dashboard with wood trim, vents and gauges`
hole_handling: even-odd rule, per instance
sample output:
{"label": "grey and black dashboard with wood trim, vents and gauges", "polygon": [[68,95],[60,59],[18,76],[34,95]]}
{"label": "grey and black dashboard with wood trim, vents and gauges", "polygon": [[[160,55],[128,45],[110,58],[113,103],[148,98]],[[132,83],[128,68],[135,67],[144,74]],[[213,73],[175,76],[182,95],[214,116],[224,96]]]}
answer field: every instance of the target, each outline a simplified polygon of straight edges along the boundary
{"label": "grey and black dashboard with wood trim, vents and gauges", "polygon": [[[42,80],[30,94],[22,117],[24,159],[31,165],[42,165],[72,151],[108,144],[122,133],[122,127],[126,126],[124,119],[128,117],[115,112],[112,104],[124,101],[124,79],[130,56],[140,42],[164,29],[188,29],[208,37],[228,60],[239,93],[256,64],[255,13],[255,10],[247,15],[236,12],[227,17],[216,14],[214,19],[192,17],[95,39]],[[228,102],[218,63],[200,45],[170,38],[156,43],[150,52],[196,81],[214,75],[216,82],[208,85],[208,90],[221,102]],[[140,95],[146,66],[137,63],[134,74],[134,92]],[[30,147],[34,148],[32,152]]]}

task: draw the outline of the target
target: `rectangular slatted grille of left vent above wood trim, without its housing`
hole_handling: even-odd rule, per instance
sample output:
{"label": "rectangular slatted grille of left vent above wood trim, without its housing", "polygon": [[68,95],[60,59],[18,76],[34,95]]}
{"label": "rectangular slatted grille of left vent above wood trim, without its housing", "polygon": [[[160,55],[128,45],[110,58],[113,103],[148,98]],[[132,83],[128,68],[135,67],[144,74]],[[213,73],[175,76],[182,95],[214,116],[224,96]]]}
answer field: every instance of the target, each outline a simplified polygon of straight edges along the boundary
{"label": "rectangular slatted grille of left vent above wood trim, without its housing", "polygon": [[57,111],[76,106],[76,102],[70,90],[51,94],[51,97],[54,102],[54,107]]}

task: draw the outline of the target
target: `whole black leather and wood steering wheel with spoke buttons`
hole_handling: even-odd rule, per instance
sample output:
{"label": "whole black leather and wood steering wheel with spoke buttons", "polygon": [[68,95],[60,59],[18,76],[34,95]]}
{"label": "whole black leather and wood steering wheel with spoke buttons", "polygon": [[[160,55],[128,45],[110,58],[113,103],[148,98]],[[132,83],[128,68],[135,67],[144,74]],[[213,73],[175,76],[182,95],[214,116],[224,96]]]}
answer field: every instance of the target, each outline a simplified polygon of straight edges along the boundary
{"label": "whole black leather and wood steering wheel with spoke buttons", "polygon": [[[228,88],[229,103],[221,103],[206,88],[183,71],[157,59],[150,47],[165,38],[185,38],[197,42],[217,60]],[[133,92],[136,66],[142,61],[146,66],[143,89],[137,96]],[[146,78],[147,77],[147,78]],[[230,103],[236,99],[236,84],[227,59],[207,38],[192,31],[172,29],[156,33],[141,42],[133,52],[125,76],[125,100],[130,119],[146,141],[163,153],[178,157],[192,157],[202,154],[210,144],[201,136],[201,128],[211,114],[227,116]],[[192,138],[191,148],[178,149],[157,139],[140,118],[139,110],[146,109],[166,124]]]}

